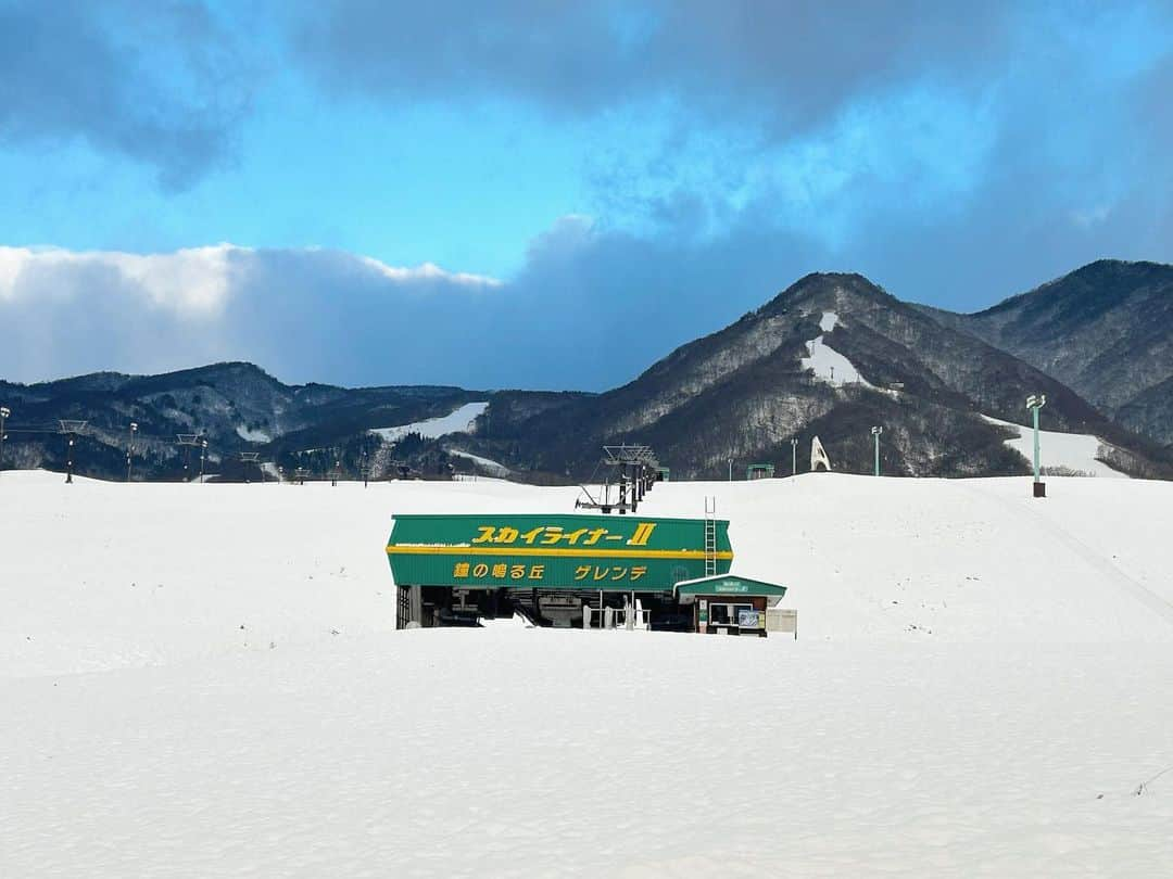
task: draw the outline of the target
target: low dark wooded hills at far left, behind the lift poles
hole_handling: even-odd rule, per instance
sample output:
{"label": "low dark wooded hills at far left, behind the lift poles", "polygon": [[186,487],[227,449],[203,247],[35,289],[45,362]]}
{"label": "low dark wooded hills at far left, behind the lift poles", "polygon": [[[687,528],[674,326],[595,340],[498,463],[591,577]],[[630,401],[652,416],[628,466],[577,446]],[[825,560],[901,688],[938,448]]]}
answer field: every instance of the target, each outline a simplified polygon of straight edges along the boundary
{"label": "low dark wooded hills at far left, behind the lift poles", "polygon": [[238,463],[242,451],[318,472],[341,458],[353,471],[364,452],[373,457],[380,445],[368,431],[419,430],[484,398],[452,387],[291,386],[238,362],[151,376],[99,373],[40,384],[0,382],[0,401],[13,411],[9,466],[60,469],[63,443],[53,431],[60,418],[76,418],[88,422],[79,438],[79,471],[107,477],[126,472],[131,422],[138,425],[136,469],[143,477],[182,473],[178,434],[206,438],[211,470],[230,476],[249,476]]}

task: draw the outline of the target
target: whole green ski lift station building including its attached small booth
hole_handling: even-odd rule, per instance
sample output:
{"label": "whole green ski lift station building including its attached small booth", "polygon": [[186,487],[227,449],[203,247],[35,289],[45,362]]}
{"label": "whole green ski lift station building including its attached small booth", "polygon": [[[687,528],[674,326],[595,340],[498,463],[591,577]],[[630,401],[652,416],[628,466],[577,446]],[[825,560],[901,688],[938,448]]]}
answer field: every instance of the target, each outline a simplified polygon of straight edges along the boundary
{"label": "whole green ski lift station building including its attached small booth", "polygon": [[717,632],[701,608],[728,605],[723,633],[765,634],[767,606],[786,592],[730,574],[728,522],[716,518],[396,516],[387,558],[399,628],[520,614],[535,626]]}

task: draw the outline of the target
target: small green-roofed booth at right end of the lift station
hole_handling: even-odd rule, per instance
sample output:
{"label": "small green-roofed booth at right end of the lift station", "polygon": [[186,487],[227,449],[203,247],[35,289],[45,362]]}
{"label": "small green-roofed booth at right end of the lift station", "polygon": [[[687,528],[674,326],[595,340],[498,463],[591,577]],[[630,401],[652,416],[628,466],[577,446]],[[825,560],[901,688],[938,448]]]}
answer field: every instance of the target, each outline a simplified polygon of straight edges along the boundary
{"label": "small green-roofed booth at right end of the lift station", "polygon": [[[676,585],[682,607],[692,605],[693,632],[721,635],[759,635],[794,632],[798,614],[777,608],[786,587],[737,574],[716,574]],[[788,624],[793,620],[793,627]]]}

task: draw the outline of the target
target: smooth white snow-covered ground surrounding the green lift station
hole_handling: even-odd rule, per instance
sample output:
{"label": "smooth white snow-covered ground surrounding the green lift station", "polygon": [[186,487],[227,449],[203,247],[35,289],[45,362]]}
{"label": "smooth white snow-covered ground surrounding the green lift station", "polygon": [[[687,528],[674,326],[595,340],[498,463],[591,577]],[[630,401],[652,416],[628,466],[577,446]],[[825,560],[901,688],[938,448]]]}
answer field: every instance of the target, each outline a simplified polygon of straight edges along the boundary
{"label": "smooth white snow-covered ground surrounding the green lift station", "polygon": [[576,488],[5,472],[0,875],[1162,874],[1173,484],[1047,488],[657,485],[759,641],[393,631],[392,513]]}

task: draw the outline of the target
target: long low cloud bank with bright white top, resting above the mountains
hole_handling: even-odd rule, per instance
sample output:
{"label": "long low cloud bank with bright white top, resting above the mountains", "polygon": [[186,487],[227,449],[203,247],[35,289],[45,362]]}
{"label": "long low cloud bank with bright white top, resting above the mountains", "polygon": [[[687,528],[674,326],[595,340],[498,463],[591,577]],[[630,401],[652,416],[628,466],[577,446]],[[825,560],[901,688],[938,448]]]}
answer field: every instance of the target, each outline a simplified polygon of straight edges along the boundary
{"label": "long low cloud bank with bright white top, resting above the mountains", "polygon": [[805,250],[650,245],[567,218],[504,285],[319,250],[0,253],[0,322],[19,328],[0,376],[250,360],[296,382],[602,390],[773,295]]}

